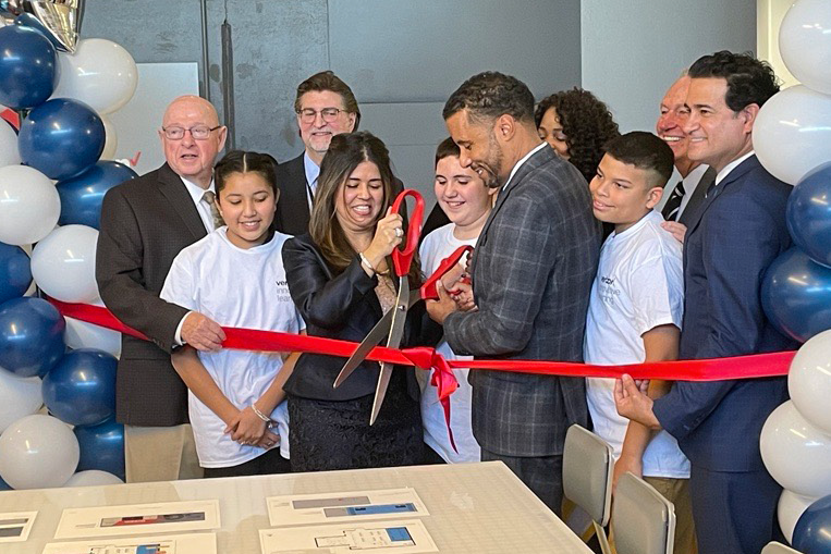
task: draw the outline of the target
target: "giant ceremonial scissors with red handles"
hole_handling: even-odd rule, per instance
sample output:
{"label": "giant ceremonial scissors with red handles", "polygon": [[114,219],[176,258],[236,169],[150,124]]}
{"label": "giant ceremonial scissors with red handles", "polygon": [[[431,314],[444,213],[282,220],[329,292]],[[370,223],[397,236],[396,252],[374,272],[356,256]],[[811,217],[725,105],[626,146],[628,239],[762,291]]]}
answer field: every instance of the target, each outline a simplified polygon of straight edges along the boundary
{"label": "giant ceremonial scissors with red handles", "polygon": [[[401,337],[404,333],[404,321],[406,320],[407,310],[419,299],[438,298],[438,292],[436,291],[436,283],[441,279],[450,269],[452,269],[459,260],[465,255],[465,253],[472,250],[469,246],[463,246],[456,249],[450,257],[442,260],[439,269],[430,275],[424,285],[418,291],[410,292],[410,281],[407,274],[410,273],[410,266],[415,256],[416,248],[418,247],[418,237],[421,233],[421,220],[424,218],[424,199],[417,190],[406,189],[403,190],[392,205],[392,211],[399,213],[401,207],[404,204],[404,199],[407,196],[412,196],[416,206],[413,210],[413,216],[410,220],[410,226],[407,229],[406,241],[403,248],[395,248],[392,251],[392,263],[395,270],[395,275],[399,278],[399,292],[395,297],[395,306],[393,306],[383,317],[376,323],[376,325],[369,331],[366,337],[360,342],[355,353],[346,360],[346,364],[341,369],[338,378],[334,380],[333,387],[338,387],[349,378],[353,371],[366,359],[369,352],[378,344],[387,338],[387,346],[390,348],[398,348],[401,344]],[[390,384],[390,377],[392,374],[392,365],[382,362],[381,371],[378,374],[378,385],[375,391],[375,401],[372,403],[372,413],[369,417],[369,424],[374,424],[378,418],[378,413],[383,404],[383,398],[387,395],[387,387]]]}

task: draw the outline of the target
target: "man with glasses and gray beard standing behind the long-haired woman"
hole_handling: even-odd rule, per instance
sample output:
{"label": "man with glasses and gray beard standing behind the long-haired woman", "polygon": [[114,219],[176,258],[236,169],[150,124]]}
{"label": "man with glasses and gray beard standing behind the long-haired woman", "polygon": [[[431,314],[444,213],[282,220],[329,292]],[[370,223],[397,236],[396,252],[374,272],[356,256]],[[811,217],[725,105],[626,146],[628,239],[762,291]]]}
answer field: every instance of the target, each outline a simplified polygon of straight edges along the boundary
{"label": "man with glasses and gray beard standing behind the long-haired woman", "polygon": [[305,149],[277,167],[280,201],[274,227],[281,233],[301,235],[308,232],[320,162],[329,143],[334,135],[358,128],[360,109],[346,83],[331,71],[321,71],[300,84],[294,111]]}

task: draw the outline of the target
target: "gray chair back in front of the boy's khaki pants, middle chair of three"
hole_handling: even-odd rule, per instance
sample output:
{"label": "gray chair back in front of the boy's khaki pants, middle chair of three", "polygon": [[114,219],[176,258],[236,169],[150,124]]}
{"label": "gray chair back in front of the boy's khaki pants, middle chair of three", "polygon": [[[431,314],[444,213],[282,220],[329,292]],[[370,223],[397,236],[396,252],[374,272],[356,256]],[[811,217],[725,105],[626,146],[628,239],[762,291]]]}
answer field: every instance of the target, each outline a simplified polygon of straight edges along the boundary
{"label": "gray chair back in front of the boy's khaki pants, middle chair of three", "polygon": [[672,554],[675,506],[627,471],[618,478],[612,534],[618,554]]}

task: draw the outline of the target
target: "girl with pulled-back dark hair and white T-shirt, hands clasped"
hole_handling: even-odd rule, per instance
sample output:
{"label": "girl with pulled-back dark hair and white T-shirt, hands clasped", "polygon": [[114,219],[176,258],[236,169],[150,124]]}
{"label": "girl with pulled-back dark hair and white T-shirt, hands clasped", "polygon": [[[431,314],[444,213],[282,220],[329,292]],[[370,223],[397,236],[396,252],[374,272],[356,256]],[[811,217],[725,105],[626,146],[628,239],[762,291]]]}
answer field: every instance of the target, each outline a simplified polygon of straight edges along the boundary
{"label": "girl with pulled-back dark hair and white T-shirt, hands clasped", "polygon": [[[266,155],[232,151],[215,170],[216,206],[225,225],[182,250],[161,297],[220,325],[298,333],[271,230],[279,190]],[[188,410],[206,477],[288,472],[289,415],[282,385],[296,355],[185,345],[172,356],[188,389]]]}

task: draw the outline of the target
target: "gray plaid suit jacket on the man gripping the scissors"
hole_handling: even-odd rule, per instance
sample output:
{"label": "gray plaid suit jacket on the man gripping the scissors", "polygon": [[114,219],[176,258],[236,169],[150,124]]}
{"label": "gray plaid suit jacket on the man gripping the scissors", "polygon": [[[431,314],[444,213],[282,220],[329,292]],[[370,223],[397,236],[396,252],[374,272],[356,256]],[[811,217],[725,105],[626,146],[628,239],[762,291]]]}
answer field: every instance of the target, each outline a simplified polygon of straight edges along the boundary
{"label": "gray plaid suit jacket on the man gripping the scissors", "polygon": [[[601,242],[586,181],[550,147],[517,170],[472,261],[478,311],[444,322],[453,350],[482,358],[583,360],[583,333]],[[473,430],[505,456],[562,454],[587,426],[585,380],[472,371]]]}

